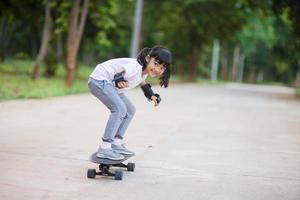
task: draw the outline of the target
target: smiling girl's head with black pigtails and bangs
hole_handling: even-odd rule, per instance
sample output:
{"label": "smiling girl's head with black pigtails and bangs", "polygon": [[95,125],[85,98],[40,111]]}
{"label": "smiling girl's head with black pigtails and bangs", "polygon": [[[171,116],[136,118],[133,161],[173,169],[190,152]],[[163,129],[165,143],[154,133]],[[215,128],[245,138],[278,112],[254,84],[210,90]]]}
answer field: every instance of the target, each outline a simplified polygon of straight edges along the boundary
{"label": "smiling girl's head with black pigtails and bangs", "polygon": [[143,66],[143,71],[146,71],[152,77],[159,77],[160,85],[168,87],[171,76],[171,52],[157,45],[152,48],[144,48],[137,57],[137,61]]}

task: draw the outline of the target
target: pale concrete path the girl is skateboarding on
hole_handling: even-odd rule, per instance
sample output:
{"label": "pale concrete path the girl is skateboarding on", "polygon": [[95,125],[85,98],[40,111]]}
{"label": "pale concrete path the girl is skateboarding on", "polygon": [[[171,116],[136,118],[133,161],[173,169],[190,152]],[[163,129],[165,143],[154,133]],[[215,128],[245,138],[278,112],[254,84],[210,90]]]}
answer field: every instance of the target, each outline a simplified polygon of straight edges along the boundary
{"label": "pale concrete path the girl is skateboarding on", "polygon": [[139,89],[127,133],[135,172],[86,171],[108,117],[92,95],[0,103],[0,199],[299,200],[300,101],[293,90],[225,84]]}

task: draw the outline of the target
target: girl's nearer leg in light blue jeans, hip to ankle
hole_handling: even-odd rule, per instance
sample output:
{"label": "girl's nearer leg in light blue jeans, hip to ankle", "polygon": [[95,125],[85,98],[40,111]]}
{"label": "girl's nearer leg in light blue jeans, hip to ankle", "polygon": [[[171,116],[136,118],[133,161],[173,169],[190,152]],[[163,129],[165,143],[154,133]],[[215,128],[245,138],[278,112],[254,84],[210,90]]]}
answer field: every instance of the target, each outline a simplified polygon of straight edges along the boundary
{"label": "girl's nearer leg in light blue jeans, hip to ankle", "polygon": [[117,89],[110,83],[106,81],[91,80],[88,85],[91,93],[95,95],[111,112],[102,140],[112,143],[126,116],[126,105],[120,98]]}

